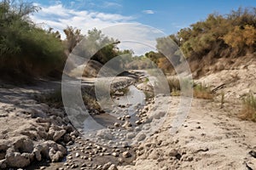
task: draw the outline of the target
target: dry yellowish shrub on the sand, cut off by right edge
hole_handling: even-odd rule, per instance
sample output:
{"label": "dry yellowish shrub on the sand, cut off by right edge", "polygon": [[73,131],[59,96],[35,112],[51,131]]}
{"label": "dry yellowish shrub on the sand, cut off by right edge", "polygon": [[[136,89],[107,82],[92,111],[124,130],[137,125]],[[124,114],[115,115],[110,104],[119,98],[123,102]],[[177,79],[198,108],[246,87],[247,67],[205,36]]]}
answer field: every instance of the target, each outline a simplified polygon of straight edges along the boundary
{"label": "dry yellowish shrub on the sand, cut off by right edge", "polygon": [[256,122],[256,97],[253,94],[247,94],[242,100],[241,119]]}

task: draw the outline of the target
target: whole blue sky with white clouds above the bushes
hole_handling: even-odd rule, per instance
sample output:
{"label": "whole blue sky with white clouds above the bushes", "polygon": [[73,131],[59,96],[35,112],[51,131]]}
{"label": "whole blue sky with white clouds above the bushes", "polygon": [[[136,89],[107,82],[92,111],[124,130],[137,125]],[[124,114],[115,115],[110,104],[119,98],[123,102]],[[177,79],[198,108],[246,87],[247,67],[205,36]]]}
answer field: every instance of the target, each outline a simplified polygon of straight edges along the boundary
{"label": "whole blue sky with white clouds above the bushes", "polygon": [[[134,49],[137,54],[143,54],[149,46],[150,48],[155,46],[156,37],[176,33],[197,21],[205,20],[208,14],[229,14],[231,10],[239,7],[256,7],[255,0],[28,0],[28,2],[41,7],[38,13],[32,14],[32,20],[39,26],[61,31],[62,37],[64,37],[62,30],[67,26],[79,28],[84,34],[92,28],[105,29],[108,33],[112,32],[106,33],[108,36],[121,41],[128,38],[130,44],[132,41],[141,42],[137,44],[138,48]],[[122,25],[123,23],[125,25]],[[143,49],[142,44],[147,44],[148,48]]]}

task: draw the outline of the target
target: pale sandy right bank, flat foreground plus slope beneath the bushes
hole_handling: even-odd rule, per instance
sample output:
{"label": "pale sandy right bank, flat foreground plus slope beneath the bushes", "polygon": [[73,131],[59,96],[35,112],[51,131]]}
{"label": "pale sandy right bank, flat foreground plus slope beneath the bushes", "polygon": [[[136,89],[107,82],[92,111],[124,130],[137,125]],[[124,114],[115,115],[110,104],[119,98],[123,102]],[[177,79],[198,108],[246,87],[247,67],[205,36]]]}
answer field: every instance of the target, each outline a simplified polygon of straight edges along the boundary
{"label": "pale sandy right bank, flat foreground plus slope beneath the bushes", "polygon": [[[249,154],[256,150],[255,122],[238,118],[242,97],[256,94],[255,73],[256,66],[247,65],[196,80],[216,88],[217,97],[193,99],[189,116],[174,135],[170,129],[179,99],[172,98],[163,126],[137,147],[135,166],[119,169],[256,169],[256,158]],[[166,105],[164,100],[162,105]]]}

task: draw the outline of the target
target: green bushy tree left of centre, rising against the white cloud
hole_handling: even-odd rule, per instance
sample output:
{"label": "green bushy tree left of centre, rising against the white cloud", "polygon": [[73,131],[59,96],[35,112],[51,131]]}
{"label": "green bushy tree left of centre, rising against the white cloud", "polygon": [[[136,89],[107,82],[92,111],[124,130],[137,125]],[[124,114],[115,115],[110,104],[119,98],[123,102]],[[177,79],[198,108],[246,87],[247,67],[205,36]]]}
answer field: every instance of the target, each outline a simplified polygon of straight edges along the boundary
{"label": "green bushy tree left of centre, rising against the white cloud", "polygon": [[120,51],[117,48],[118,40],[105,36],[102,31],[96,30],[96,28],[88,31],[87,35],[84,36],[80,35],[79,30],[74,30],[72,27],[68,27],[65,32],[69,35],[69,38],[67,38],[69,52],[81,41],[73,53],[81,57],[84,56],[87,59],[96,60],[102,64],[107,63],[119,54],[131,53],[130,50]]}

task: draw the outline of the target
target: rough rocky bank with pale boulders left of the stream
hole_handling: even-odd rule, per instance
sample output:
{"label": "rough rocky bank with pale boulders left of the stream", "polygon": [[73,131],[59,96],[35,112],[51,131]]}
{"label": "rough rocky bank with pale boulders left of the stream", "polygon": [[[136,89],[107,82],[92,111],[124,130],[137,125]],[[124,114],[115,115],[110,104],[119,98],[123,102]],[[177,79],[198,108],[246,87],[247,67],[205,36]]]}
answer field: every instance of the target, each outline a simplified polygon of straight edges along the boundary
{"label": "rough rocky bank with pale boulders left of the stream", "polygon": [[79,135],[63,111],[34,99],[39,93],[37,88],[0,88],[1,169],[61,161],[65,145]]}

